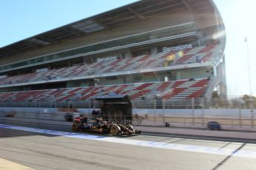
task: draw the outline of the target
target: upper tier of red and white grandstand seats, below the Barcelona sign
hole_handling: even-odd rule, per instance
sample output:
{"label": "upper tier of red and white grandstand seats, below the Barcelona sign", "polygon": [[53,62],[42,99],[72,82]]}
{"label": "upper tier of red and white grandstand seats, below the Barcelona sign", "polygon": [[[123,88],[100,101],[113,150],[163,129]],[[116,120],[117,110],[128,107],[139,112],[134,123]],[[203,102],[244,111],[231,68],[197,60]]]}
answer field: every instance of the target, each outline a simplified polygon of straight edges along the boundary
{"label": "upper tier of red and white grandstand seats, below the Barcelona sign", "polygon": [[0,78],[0,85],[19,84],[35,81],[50,81],[59,78],[71,78],[77,76],[93,75],[103,72],[119,72],[132,69],[163,67],[168,55],[175,55],[176,59],[172,65],[191,64],[210,61],[216,44],[194,47],[183,50],[183,56],[178,57],[178,51],[159,52],[156,55],[139,55],[131,58],[114,59],[111,61],[96,61],[93,64],[80,64],[73,67],[52,69],[48,71],[16,75],[7,78]]}

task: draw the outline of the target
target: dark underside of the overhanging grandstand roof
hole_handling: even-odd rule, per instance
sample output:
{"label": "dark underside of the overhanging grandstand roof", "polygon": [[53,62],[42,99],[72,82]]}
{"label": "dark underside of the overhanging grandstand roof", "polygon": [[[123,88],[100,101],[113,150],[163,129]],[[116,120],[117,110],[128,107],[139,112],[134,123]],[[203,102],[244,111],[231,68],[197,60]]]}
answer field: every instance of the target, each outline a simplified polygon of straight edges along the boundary
{"label": "dark underside of the overhanging grandstand roof", "polygon": [[212,10],[211,0],[142,0],[133,4],[82,19],[62,27],[34,35],[22,41],[0,48],[0,57],[22,53],[49,44],[56,44],[70,38],[78,38],[101,30],[119,27],[134,21],[142,21],[178,10],[190,10],[193,13]]}

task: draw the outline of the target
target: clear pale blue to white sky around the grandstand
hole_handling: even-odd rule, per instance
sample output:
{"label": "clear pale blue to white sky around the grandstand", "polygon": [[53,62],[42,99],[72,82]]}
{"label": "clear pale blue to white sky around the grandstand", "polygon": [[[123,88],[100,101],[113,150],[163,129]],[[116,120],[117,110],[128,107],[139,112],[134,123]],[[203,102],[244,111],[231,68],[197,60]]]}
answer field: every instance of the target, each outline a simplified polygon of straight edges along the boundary
{"label": "clear pale blue to white sky around the grandstand", "polygon": [[[0,47],[82,18],[130,4],[134,0],[0,0]],[[226,27],[226,78],[228,95],[256,95],[255,0],[214,0]],[[249,61],[246,58],[248,38]]]}

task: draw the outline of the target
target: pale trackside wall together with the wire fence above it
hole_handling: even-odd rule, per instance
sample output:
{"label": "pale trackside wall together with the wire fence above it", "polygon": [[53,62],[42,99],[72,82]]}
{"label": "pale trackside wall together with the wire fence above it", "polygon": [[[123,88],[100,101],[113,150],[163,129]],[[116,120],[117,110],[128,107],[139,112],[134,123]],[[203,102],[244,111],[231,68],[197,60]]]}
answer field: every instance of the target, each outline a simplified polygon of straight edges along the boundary
{"label": "pale trackside wall together with the wire fence above it", "polygon": [[[175,126],[209,128],[217,122],[221,129],[255,131],[256,105],[254,101],[220,100],[136,100],[132,103],[132,124],[139,126]],[[0,102],[0,115],[15,112],[16,118],[63,120],[66,114],[86,115],[99,109],[100,101],[26,101]],[[112,120],[114,118],[111,118]]]}

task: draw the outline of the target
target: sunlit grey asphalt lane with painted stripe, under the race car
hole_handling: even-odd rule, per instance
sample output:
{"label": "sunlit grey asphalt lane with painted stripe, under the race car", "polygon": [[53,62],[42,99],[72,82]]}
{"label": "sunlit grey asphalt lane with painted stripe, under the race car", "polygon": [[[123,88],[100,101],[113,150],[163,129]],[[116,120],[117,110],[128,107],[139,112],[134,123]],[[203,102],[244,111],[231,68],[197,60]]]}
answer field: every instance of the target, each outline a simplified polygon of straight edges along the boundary
{"label": "sunlit grey asphalt lane with painted stripe, under the race car", "polygon": [[99,136],[100,140],[92,140],[68,137],[70,129],[65,126],[8,124],[62,132],[62,135],[54,135],[0,128],[0,157],[33,169],[255,169],[256,145],[250,143],[149,135],[78,134]]}

